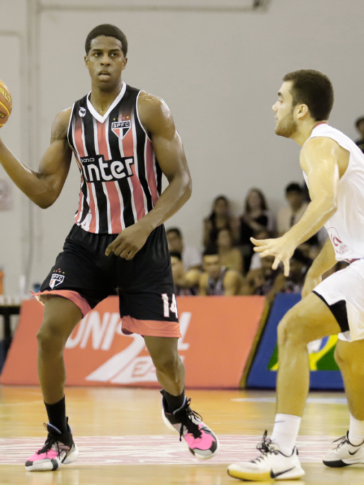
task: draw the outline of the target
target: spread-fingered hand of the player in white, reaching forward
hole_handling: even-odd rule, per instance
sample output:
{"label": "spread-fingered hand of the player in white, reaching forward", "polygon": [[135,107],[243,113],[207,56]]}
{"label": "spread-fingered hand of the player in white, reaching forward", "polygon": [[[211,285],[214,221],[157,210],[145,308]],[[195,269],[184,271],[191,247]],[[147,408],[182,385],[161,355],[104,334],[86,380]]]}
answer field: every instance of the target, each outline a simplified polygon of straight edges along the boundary
{"label": "spread-fingered hand of the player in white, reaching forward", "polygon": [[254,251],[260,253],[261,258],[274,256],[272,269],[276,270],[282,261],[284,266],[284,276],[289,276],[289,260],[296,249],[296,245],[289,242],[284,236],[276,239],[254,239],[250,241],[255,245]]}

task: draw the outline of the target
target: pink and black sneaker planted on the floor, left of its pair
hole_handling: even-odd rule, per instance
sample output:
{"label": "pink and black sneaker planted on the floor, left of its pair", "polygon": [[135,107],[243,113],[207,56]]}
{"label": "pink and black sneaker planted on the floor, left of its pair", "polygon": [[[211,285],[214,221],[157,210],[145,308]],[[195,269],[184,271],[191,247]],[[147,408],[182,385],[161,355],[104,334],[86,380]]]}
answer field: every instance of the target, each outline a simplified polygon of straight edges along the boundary
{"label": "pink and black sneaker planted on the floor, left of its pair", "polygon": [[44,423],[48,437],[43,448],[36,451],[25,463],[27,471],[51,471],[62,463],[68,465],[78,458],[78,448],[73,442],[72,430],[67,424],[67,433],[61,433],[50,423]]}

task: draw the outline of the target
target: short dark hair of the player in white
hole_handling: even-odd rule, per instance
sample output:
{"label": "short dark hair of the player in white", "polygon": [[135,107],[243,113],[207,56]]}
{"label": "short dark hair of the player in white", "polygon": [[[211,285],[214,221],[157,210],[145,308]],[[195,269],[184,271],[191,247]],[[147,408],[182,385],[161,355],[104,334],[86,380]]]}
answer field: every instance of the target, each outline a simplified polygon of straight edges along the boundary
{"label": "short dark hair of the player in white", "polygon": [[292,105],[306,104],[316,121],[329,119],[334,95],[330,79],[314,69],[300,69],[286,74],[283,81],[292,81]]}

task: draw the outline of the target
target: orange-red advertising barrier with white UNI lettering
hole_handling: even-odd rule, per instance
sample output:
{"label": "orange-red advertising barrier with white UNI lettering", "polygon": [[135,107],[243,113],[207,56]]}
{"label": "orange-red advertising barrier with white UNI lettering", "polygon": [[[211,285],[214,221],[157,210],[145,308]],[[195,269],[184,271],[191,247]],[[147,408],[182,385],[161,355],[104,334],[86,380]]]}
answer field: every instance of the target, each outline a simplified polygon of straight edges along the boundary
{"label": "orange-red advertising barrier with white UNI lettering", "polygon": [[[177,301],[186,386],[238,388],[265,298],[184,296]],[[37,301],[24,302],[1,384],[38,384],[36,333],[42,316]],[[101,302],[76,326],[67,340],[65,363],[67,385],[159,387],[143,337],[121,332],[117,297]]]}

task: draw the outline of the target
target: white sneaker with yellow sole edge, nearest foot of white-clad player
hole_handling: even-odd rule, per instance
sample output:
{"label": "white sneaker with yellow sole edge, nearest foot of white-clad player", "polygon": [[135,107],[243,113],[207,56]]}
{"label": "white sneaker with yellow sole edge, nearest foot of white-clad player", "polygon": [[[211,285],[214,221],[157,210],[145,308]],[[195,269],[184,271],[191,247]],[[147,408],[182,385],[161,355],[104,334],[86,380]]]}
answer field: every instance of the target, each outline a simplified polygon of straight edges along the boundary
{"label": "white sneaker with yellow sole edge, nearest foot of white-clad player", "polygon": [[234,478],[249,481],[293,480],[305,474],[298,460],[295,447],[291,456],[286,456],[280,447],[263,436],[263,441],[257,446],[262,452],[255,460],[233,463],[228,467],[228,474]]}

